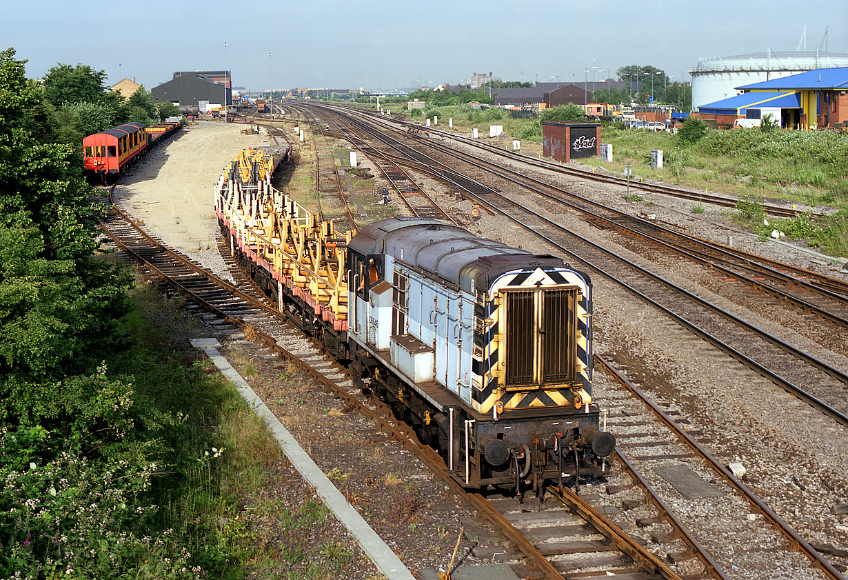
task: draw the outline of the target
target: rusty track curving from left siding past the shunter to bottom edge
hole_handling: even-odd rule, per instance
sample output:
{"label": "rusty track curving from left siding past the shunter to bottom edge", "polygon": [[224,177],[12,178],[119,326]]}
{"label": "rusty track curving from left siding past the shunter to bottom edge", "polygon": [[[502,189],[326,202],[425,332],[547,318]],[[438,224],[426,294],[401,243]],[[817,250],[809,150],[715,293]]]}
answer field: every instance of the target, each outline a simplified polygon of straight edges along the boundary
{"label": "rusty track curving from left siding past the shunter to bottom edge", "polygon": [[[327,388],[332,388],[350,404],[356,404],[360,412],[375,421],[381,430],[392,433],[404,448],[414,451],[427,465],[441,473],[444,481],[455,487],[456,493],[465,494],[455,486],[447,475],[444,461],[432,449],[418,443],[415,433],[409,427],[393,419],[391,410],[379,405],[374,410],[375,401],[365,401],[360,393],[356,393],[346,371],[288,325],[282,315],[268,304],[267,297],[248,283],[249,279],[243,273],[240,274],[242,278],[239,286],[246,291],[215,279],[202,266],[164,248],[120,212],[110,215],[103,226],[115,243],[144,269],[186,293],[223,321],[248,327],[250,332],[275,352],[294,360]],[[226,244],[220,245],[226,253]],[[231,263],[234,272],[238,272],[236,263]],[[656,494],[644,484],[643,478],[633,478],[643,482],[640,483],[639,494],[649,497],[653,505],[662,505]],[[593,492],[594,487],[598,487],[598,493]],[[516,572],[536,577],[538,574],[552,578],[562,577],[563,574],[594,577],[605,575],[606,572],[633,574],[632,577],[644,580],[677,579],[683,575],[689,578],[726,577],[706,551],[692,539],[691,534],[679,524],[667,532],[653,534],[656,544],[666,544],[660,550],[662,557],[648,551],[644,548],[644,544],[647,544],[644,540],[629,536],[622,531],[622,527],[610,520],[609,516],[622,513],[622,509],[601,501],[600,493],[601,486],[586,483],[583,485],[583,495],[566,488],[551,487],[548,489],[548,501],[544,505],[534,499],[521,503],[515,498],[486,498],[480,494],[466,494],[471,505],[498,530],[496,536],[488,538],[490,544],[497,544],[499,538],[505,538],[509,543],[508,548],[497,549],[490,545],[478,550],[477,554],[482,557],[491,551],[495,559],[509,561]],[[593,499],[596,505],[593,505]],[[622,505],[628,504],[622,502]],[[663,522],[673,521],[673,516],[666,509],[657,510],[655,516],[646,519],[664,525]],[[653,548],[658,549],[657,545]],[[668,565],[669,561],[683,566],[685,574],[674,572]],[[693,565],[700,572],[693,572]]]}

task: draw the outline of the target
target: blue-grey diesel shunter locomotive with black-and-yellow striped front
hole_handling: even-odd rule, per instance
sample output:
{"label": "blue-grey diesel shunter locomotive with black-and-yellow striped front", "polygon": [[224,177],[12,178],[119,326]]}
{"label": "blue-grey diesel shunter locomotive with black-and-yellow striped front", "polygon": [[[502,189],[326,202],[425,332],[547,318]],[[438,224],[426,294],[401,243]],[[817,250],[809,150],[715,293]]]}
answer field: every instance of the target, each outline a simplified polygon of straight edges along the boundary
{"label": "blue-grey diesel shunter locomotive with black-and-yellow striped front", "polygon": [[592,285],[549,255],[393,218],[348,248],[354,380],[393,404],[467,488],[600,476]]}

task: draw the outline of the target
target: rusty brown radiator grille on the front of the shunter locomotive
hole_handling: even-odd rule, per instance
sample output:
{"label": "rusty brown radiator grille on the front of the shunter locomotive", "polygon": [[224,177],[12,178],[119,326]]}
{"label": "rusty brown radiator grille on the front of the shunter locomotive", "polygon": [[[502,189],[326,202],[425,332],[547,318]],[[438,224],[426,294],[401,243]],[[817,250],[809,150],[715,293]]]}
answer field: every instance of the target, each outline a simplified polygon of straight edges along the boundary
{"label": "rusty brown radiator grille on the front of the shunter locomotive", "polygon": [[510,290],[501,296],[506,388],[576,384],[578,288]]}

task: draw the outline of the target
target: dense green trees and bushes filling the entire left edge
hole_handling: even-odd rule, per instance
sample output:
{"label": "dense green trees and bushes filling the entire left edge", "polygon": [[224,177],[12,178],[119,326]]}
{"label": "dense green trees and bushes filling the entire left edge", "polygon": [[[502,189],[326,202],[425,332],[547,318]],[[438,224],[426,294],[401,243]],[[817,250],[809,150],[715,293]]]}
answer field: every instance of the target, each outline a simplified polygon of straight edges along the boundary
{"label": "dense green trees and bushes filling the entire left edge", "polygon": [[25,62],[0,52],[0,577],[195,577],[158,507],[185,480],[177,377],[126,371],[159,365],[133,354],[134,280],[103,259],[80,162],[85,134],[171,111]]}

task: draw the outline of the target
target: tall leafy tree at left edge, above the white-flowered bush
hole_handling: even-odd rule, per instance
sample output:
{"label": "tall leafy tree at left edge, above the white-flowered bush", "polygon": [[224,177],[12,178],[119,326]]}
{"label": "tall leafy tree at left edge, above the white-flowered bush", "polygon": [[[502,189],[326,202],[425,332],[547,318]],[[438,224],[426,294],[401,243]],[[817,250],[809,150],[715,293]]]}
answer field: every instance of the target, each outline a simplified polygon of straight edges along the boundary
{"label": "tall leafy tree at left edge, above the white-flowered bush", "polygon": [[[14,49],[0,53],[0,415],[31,415],[28,389],[92,370],[114,340],[126,280],[93,259],[103,206],[46,140],[42,90]],[[36,388],[37,390],[37,388]],[[47,395],[45,395],[47,396]],[[9,407],[8,405],[11,405]],[[42,405],[47,409],[47,405]],[[47,412],[47,411],[44,411]],[[51,411],[53,412],[53,411]]]}

